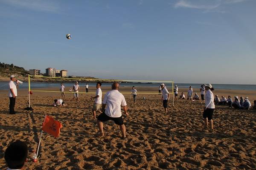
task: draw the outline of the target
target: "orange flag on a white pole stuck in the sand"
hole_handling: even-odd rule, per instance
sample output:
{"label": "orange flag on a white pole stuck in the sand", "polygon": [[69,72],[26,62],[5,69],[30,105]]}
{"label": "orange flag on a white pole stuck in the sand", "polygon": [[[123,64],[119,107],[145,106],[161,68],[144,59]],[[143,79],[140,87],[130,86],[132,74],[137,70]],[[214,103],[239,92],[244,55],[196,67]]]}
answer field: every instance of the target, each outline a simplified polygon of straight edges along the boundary
{"label": "orange flag on a white pole stuck in the sand", "polygon": [[44,130],[47,133],[50,133],[55,137],[58,137],[61,132],[61,127],[61,122],[54,120],[50,116],[45,116],[42,130]]}

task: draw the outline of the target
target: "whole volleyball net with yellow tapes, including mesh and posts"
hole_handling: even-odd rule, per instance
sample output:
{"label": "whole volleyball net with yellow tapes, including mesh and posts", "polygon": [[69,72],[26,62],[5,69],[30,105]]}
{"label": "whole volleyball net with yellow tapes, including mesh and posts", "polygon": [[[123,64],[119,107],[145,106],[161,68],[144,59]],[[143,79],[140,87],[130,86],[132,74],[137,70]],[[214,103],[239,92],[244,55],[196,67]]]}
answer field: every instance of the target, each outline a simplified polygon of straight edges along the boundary
{"label": "whole volleyball net with yellow tapes, including mesh and posts", "polygon": [[[37,82],[38,83],[75,83],[75,82],[79,82],[79,84],[84,84],[84,83],[96,83],[96,82],[101,82],[101,83],[105,83],[105,84],[109,84],[111,85],[111,83],[113,82],[119,82],[121,85],[121,87],[124,85],[125,87],[132,87],[132,86],[136,86],[136,87],[154,87],[157,88],[160,83],[165,83],[169,94],[172,94],[172,98],[173,98],[173,106],[174,106],[174,81],[173,80],[126,80],[126,79],[90,79],[90,78],[67,78],[67,77],[45,77],[45,76],[38,76],[38,75],[29,75],[28,76],[28,84],[29,84],[29,93],[28,93],[28,100],[29,100],[29,107],[30,107],[30,94],[32,94],[32,92],[51,92],[51,93],[63,93],[63,91],[57,91],[57,90],[45,90],[41,89],[40,87],[33,87],[32,82]],[[50,86],[50,85],[49,85]],[[171,86],[171,89],[170,89]],[[59,88],[54,85],[52,86],[52,88],[56,88],[59,90]],[[51,88],[51,89],[52,89]],[[80,92],[81,90],[79,90],[79,92],[74,92],[74,91],[64,91],[64,93],[78,93],[78,94],[95,94],[95,92]],[[121,92],[122,94],[131,94],[131,92]],[[105,94],[105,93],[102,93]],[[152,95],[158,95],[159,92],[141,92],[139,91],[138,94],[152,94]]]}

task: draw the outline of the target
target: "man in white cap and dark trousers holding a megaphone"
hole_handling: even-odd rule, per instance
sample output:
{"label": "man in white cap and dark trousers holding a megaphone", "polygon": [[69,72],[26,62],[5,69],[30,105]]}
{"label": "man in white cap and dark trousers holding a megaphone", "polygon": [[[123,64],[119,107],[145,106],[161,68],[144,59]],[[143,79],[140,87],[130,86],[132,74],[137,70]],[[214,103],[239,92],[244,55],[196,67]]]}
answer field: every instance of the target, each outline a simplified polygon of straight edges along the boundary
{"label": "man in white cap and dark trousers holding a megaphone", "polygon": [[15,107],[15,100],[16,100],[16,96],[17,96],[17,87],[14,84],[14,82],[17,82],[17,79],[15,79],[15,76],[12,75],[10,77],[11,81],[9,82],[9,99],[10,99],[10,104],[9,104],[9,110],[10,110],[10,114],[15,114],[16,112],[14,111],[14,107]]}

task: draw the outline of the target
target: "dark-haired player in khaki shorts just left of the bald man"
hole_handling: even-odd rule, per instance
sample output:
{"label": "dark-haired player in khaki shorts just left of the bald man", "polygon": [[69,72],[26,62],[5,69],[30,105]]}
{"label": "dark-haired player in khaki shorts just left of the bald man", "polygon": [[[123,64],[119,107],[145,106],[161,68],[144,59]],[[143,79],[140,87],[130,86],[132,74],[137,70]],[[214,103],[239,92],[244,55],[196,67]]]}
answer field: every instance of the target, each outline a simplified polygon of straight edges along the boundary
{"label": "dark-haired player in khaki shorts just left of the bald man", "polygon": [[96,94],[94,97],[91,97],[90,99],[95,99],[94,100],[94,104],[93,104],[93,108],[92,108],[92,111],[93,111],[93,119],[96,119],[96,112],[98,113],[102,113],[100,111],[100,107],[102,105],[102,91],[101,91],[101,85],[102,83],[101,82],[97,82],[96,84]]}

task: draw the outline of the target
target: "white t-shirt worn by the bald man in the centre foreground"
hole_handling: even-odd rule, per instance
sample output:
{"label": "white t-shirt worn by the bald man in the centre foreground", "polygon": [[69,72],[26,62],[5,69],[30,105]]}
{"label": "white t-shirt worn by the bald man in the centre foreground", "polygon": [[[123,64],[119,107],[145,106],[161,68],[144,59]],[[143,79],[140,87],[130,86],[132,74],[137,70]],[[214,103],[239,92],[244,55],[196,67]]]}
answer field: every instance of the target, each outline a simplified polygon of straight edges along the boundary
{"label": "white t-shirt worn by the bald man in the centre foreground", "polygon": [[118,90],[108,91],[102,104],[106,104],[105,114],[109,117],[121,117],[121,106],[126,106],[125,97]]}

